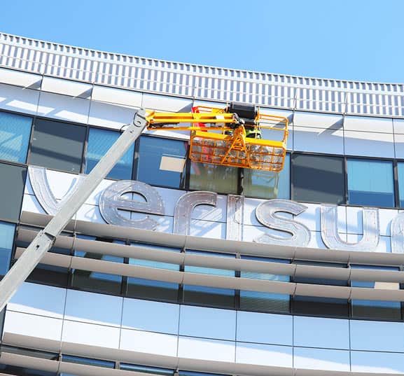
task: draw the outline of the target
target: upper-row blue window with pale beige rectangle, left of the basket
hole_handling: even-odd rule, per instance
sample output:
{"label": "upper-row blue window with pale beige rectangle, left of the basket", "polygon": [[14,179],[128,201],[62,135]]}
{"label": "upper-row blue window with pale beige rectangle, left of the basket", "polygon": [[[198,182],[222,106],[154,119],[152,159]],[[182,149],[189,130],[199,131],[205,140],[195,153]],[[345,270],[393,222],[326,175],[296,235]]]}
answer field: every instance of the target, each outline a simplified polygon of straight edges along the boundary
{"label": "upper-row blue window with pale beige rectangle, left of the basket", "polygon": [[152,186],[183,188],[187,150],[185,141],[141,137],[136,179]]}

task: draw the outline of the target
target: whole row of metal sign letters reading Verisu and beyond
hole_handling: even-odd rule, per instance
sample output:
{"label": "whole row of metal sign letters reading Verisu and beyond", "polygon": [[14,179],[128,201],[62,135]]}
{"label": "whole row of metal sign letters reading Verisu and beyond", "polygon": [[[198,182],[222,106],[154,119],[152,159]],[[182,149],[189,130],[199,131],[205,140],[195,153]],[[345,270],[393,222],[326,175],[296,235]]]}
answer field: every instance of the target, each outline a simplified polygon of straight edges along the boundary
{"label": "whole row of metal sign letters reading Verisu and beyond", "polygon": [[[76,190],[81,181],[78,176],[71,186],[69,193],[62,201],[57,202],[53,195],[46,169],[29,166],[29,180],[37,200],[46,213],[55,215],[71,193]],[[128,196],[132,194],[132,196]],[[135,200],[138,195],[140,200]],[[132,198],[131,198],[132,197]],[[216,207],[217,193],[190,192],[184,193],[176,202],[174,209],[174,233],[188,235],[190,231],[191,214],[197,205]],[[156,216],[165,216],[165,206],[158,190],[141,181],[116,181],[106,188],[99,196],[99,210],[106,223],[147,230],[158,229]],[[308,246],[311,232],[298,221],[299,214],[307,210],[304,204],[291,200],[266,200],[258,204],[255,210],[256,219],[267,228],[254,242],[265,244],[279,244],[287,246]],[[125,215],[126,213],[126,215]],[[132,218],[132,214],[137,216]],[[286,213],[290,215],[287,218]],[[141,216],[139,214],[146,214]],[[151,217],[151,215],[154,216]],[[341,239],[338,232],[337,205],[321,205],[321,238],[330,249],[344,251],[375,251],[379,243],[379,209],[364,207],[363,235],[356,243],[349,243]],[[242,240],[244,197],[228,195],[226,238]],[[296,218],[295,218],[296,217]],[[157,217],[158,218],[158,217]],[[404,253],[404,213],[400,213],[391,221],[391,252]]]}

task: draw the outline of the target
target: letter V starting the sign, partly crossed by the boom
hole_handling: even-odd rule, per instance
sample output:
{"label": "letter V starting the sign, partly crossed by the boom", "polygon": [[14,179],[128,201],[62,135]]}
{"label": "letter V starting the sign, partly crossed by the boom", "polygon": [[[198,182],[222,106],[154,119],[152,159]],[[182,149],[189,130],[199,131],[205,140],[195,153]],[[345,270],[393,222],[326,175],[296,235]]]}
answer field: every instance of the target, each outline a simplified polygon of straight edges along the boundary
{"label": "letter V starting the sign, partly crossed by the boom", "polygon": [[78,175],[74,179],[74,182],[69,188],[67,194],[64,195],[62,200],[57,202],[52,190],[50,190],[45,167],[29,166],[28,176],[29,181],[31,182],[32,190],[34,190],[34,194],[39,204],[41,204],[43,210],[45,210],[46,213],[50,214],[51,216],[55,216],[57,212],[60,211],[60,208],[69,199],[69,197],[76,192],[79,184],[85,178],[85,175]]}

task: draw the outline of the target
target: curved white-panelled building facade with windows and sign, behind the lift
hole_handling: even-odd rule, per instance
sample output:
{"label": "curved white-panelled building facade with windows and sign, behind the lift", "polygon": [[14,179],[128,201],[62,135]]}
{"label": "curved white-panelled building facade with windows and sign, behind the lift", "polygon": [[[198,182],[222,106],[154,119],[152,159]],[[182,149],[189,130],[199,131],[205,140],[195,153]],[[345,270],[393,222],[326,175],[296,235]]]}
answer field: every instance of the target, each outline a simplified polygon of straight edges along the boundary
{"label": "curved white-panelled building facade with windows and sign, behind the lift", "polygon": [[137,109],[290,122],[279,175],[144,132],[6,307],[0,372],[404,374],[404,85],[0,49],[2,275]]}

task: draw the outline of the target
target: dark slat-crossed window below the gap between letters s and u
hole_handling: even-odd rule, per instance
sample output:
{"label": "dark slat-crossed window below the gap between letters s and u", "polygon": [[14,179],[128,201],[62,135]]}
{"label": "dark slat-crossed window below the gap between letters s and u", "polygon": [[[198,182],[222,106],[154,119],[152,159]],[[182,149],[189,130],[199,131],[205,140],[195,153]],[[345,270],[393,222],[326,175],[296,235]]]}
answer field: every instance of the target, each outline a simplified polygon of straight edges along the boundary
{"label": "dark slat-crossed window below the gap between letters s and u", "polygon": [[[295,263],[298,265],[323,267],[347,267],[344,264],[316,263],[311,261],[296,261]],[[298,284],[348,286],[348,281],[342,279],[294,277],[293,281]],[[293,298],[293,313],[310,314],[313,316],[348,317],[349,305],[346,299],[295,295]]]}

